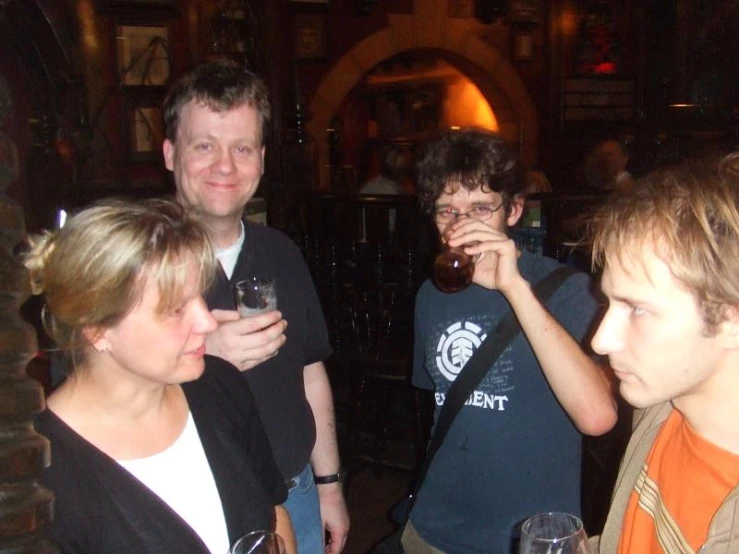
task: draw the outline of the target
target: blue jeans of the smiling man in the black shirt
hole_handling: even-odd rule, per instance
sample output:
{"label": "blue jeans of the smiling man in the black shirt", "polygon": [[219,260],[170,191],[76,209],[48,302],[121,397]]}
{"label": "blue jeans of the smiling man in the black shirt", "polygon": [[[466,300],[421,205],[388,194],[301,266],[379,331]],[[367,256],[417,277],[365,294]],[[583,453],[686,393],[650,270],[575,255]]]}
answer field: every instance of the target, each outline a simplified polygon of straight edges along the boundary
{"label": "blue jeans of the smiling man in the black shirt", "polygon": [[290,513],[298,541],[298,554],[323,554],[323,523],[318,490],[310,464],[288,483],[290,494],[284,506]]}

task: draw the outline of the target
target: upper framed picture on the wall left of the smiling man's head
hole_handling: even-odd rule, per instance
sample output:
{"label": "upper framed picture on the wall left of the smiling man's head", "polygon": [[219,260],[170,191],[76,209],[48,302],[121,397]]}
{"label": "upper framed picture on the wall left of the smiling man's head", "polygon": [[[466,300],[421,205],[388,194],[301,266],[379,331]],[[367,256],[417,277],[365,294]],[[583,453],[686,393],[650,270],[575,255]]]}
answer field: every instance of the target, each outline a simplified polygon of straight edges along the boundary
{"label": "upper framed picture on the wall left of the smiling man's head", "polygon": [[124,86],[161,86],[169,79],[166,26],[119,25],[118,75]]}

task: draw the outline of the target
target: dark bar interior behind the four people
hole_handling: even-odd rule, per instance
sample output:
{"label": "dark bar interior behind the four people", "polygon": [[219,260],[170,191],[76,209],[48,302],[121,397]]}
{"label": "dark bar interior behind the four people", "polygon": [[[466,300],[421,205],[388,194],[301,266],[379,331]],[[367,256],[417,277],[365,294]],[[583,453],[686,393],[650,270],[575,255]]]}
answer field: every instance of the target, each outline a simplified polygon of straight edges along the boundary
{"label": "dark bar interior behind the four people", "polygon": [[[53,551],[30,425],[51,344],[14,250],[60,210],[174,194],[161,104],[195,63],[228,56],[269,87],[246,217],[294,240],[320,296],[354,554],[391,530],[429,436],[433,399],[408,379],[413,299],[438,250],[415,194],[422,146],[447,128],[500,133],[531,182],[519,248],[590,272],[581,219],[615,186],[600,145],[617,143],[637,180],[739,145],[738,25],[728,0],[0,0],[0,554]],[[397,188],[364,192],[391,157]],[[589,534],[630,428],[622,408],[584,442]]]}

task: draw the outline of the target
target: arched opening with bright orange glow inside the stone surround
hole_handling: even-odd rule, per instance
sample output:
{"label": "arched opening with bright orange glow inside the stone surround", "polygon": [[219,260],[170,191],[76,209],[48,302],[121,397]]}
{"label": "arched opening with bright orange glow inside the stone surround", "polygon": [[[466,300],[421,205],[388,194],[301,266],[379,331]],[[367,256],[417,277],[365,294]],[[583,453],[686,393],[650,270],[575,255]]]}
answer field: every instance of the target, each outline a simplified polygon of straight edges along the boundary
{"label": "arched opening with bright orange glow inside the stone surround", "polygon": [[490,102],[437,50],[409,50],[366,73],[332,120],[330,190],[353,193],[367,181],[392,175],[414,191],[418,147],[441,128],[499,131]]}

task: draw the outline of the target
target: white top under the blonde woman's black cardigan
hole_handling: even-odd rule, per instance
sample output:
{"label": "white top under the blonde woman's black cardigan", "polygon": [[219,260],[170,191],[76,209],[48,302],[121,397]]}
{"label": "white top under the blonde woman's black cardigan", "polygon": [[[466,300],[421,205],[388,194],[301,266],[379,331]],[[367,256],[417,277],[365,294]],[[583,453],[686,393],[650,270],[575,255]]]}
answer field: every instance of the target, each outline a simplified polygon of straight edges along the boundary
{"label": "white top under the blonde woman's black cardigan", "polygon": [[165,451],[117,462],[177,512],[212,554],[228,552],[221,497],[192,414],[182,434]]}

